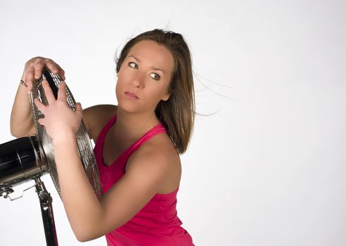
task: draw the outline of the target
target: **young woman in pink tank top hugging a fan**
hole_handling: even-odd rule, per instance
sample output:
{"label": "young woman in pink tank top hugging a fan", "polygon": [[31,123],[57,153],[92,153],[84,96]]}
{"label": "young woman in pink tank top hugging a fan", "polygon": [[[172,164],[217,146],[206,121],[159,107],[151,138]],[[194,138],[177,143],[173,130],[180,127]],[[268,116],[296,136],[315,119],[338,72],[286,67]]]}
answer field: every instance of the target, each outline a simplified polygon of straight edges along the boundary
{"label": "young woman in pink tank top hugging a fan", "polygon": [[[27,92],[43,67],[64,71],[53,60],[25,64],[11,114],[11,134],[34,134]],[[77,240],[105,235],[108,245],[193,245],[177,216],[181,179],[179,154],[191,138],[195,112],[191,56],[181,34],[139,34],[117,60],[118,105],[68,107],[65,82],[58,99],[43,82],[49,101],[34,103],[39,124],[53,140],[63,205]],[[79,160],[75,133],[81,119],[96,145],[103,196],[99,201]],[[19,124],[20,122],[20,124]]]}

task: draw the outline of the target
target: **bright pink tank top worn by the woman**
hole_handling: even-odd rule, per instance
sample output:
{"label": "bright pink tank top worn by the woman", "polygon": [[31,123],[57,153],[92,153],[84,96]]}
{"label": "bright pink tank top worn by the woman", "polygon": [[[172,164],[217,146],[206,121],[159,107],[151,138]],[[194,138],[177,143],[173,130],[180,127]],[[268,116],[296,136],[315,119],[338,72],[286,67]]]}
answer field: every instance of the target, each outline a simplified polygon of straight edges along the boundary
{"label": "bright pink tank top worn by the woman", "polygon": [[[117,115],[114,115],[105,124],[94,148],[103,194],[124,175],[127,160],[134,151],[153,136],[166,133],[162,124],[156,125],[119,155],[112,164],[106,166],[103,162],[103,143],[105,135],[116,120]],[[182,222],[177,216],[178,190],[179,187],[172,193],[154,195],[126,224],[105,235],[108,246],[193,245],[191,235],[181,227]]]}

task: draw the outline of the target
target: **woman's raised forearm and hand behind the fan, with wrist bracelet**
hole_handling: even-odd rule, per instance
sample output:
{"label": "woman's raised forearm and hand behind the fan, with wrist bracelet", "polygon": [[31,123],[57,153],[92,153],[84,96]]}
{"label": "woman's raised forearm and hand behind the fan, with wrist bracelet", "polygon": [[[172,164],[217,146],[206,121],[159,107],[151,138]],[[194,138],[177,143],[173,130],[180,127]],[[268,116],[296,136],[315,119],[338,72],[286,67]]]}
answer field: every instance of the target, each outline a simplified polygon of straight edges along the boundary
{"label": "woman's raised forearm and hand behind the fan, with wrist bracelet", "polygon": [[18,91],[15,94],[11,112],[11,134],[17,138],[35,134],[29,95],[33,80],[41,77],[44,67],[49,68],[54,73],[59,73],[65,79],[63,69],[51,59],[35,57],[25,63],[22,80],[27,84],[27,87],[18,82]]}

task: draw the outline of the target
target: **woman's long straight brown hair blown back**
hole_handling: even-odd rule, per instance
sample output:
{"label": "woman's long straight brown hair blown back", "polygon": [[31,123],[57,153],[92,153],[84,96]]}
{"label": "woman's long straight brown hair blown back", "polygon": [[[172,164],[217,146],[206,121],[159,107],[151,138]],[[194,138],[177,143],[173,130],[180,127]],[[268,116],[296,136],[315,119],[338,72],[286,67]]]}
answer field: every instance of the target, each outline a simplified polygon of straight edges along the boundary
{"label": "woman's long straight brown hair blown back", "polygon": [[174,69],[168,87],[169,99],[158,103],[155,114],[167,129],[167,134],[177,151],[182,154],[191,139],[195,119],[195,91],[190,50],[179,33],[159,29],[143,32],[130,39],[122,48],[117,59],[117,72],[131,48],[143,40],[155,41],[165,46],[174,58]]}

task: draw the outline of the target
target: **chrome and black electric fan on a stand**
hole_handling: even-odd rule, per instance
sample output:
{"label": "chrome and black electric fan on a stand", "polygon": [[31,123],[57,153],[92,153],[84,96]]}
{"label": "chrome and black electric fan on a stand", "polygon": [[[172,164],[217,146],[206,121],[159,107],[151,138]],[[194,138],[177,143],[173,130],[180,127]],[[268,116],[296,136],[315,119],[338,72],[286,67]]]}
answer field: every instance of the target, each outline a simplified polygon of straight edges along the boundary
{"label": "chrome and black electric fan on a stand", "polygon": [[[55,98],[58,98],[58,87],[62,79],[59,75],[44,69],[41,78],[34,80],[32,84],[32,93],[30,93],[30,103],[32,105],[36,135],[18,138],[0,145],[0,196],[10,198],[10,200],[17,200],[23,195],[18,198],[11,198],[9,194],[13,192],[13,186],[34,179],[35,185],[29,188],[35,187],[37,195],[39,196],[46,244],[58,245],[53,208],[51,206],[51,195],[44,187],[44,183],[39,179],[41,175],[48,172],[61,198],[58,172],[54,160],[53,144],[50,136],[46,133],[45,127],[37,122],[43,114],[38,110],[36,105],[34,105],[34,98],[39,98],[41,103],[48,105],[44,89],[41,86],[41,82],[44,79],[49,82],[49,86],[51,86]],[[66,93],[68,105],[72,110],[75,110],[75,99],[70,89],[68,89],[68,86],[66,86]],[[79,157],[84,166],[84,170],[97,198],[100,200],[101,186],[98,178],[96,159],[83,120],[76,133],[76,138]],[[23,192],[25,190],[23,190]]]}

